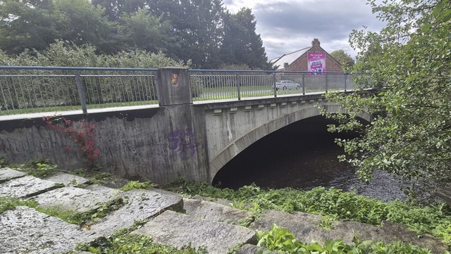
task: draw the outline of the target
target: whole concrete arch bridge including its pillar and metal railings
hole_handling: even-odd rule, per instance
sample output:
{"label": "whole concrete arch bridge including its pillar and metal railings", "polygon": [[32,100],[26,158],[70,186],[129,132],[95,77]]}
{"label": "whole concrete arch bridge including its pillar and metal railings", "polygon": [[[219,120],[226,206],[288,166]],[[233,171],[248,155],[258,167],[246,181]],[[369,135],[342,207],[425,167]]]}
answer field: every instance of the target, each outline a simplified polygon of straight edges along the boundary
{"label": "whole concrete arch bridge including its pillar and metal railings", "polygon": [[[92,139],[103,170],[156,183],[180,177],[211,182],[248,146],[320,115],[319,107],[346,113],[323,95],[352,91],[352,75],[343,73],[161,68],[139,75],[118,75],[126,69],[116,69],[112,75],[108,68],[40,69],[0,68],[8,72],[0,77],[0,158],[8,163],[48,158],[60,168],[84,167],[76,144],[42,117],[64,118],[79,129],[82,122],[95,125]],[[281,80],[295,86],[282,87]],[[361,118],[370,121],[371,115]]]}

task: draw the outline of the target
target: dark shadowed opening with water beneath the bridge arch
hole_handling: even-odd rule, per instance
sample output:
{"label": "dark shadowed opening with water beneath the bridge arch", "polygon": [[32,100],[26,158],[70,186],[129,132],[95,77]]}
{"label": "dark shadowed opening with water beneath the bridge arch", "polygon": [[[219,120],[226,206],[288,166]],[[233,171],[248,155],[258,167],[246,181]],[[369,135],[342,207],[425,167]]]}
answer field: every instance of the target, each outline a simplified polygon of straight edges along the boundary
{"label": "dark shadowed opening with water beneath the bridge arch", "polygon": [[222,167],[212,184],[230,189],[252,183],[273,189],[311,189],[332,184],[343,189],[337,179],[354,175],[354,170],[338,162],[342,148],[334,142],[338,134],[327,132],[331,123],[333,120],[316,116],[265,136]]}

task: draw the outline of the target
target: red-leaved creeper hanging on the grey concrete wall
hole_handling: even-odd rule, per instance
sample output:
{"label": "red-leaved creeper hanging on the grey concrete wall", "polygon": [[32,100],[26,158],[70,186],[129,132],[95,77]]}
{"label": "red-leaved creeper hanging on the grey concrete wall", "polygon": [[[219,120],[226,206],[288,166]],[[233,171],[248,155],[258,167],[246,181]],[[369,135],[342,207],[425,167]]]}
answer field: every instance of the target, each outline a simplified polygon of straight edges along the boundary
{"label": "red-leaved creeper hanging on the grey concrete wall", "polygon": [[[100,153],[100,150],[95,147],[96,141],[94,140],[94,129],[97,125],[89,124],[86,121],[75,124],[71,120],[58,116],[44,116],[43,120],[51,129],[74,141],[78,150],[89,163],[89,167],[94,167]],[[73,151],[73,147],[70,146],[66,146],[65,149],[68,152]]]}

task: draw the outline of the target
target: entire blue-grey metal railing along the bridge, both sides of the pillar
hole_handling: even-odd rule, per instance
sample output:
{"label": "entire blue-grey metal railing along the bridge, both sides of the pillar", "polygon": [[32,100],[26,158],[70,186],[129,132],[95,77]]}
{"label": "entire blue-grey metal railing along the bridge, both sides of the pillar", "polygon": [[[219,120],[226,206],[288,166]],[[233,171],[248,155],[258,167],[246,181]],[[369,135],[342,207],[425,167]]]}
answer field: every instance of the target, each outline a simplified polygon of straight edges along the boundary
{"label": "entire blue-grey metal railing along the bridge, both sides of the pillar", "polygon": [[[158,104],[155,68],[0,66],[0,115]],[[349,91],[343,72],[189,70],[193,101]]]}

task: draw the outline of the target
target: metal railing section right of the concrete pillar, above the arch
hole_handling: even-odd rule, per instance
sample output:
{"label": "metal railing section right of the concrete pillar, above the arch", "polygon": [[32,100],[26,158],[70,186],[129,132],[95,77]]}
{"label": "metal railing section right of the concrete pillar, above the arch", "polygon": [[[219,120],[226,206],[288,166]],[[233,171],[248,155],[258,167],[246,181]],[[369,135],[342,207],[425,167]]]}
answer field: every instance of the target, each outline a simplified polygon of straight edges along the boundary
{"label": "metal railing section right of the concrete pillar, above the arch", "polygon": [[268,70],[190,70],[193,101],[351,91],[361,74]]}

